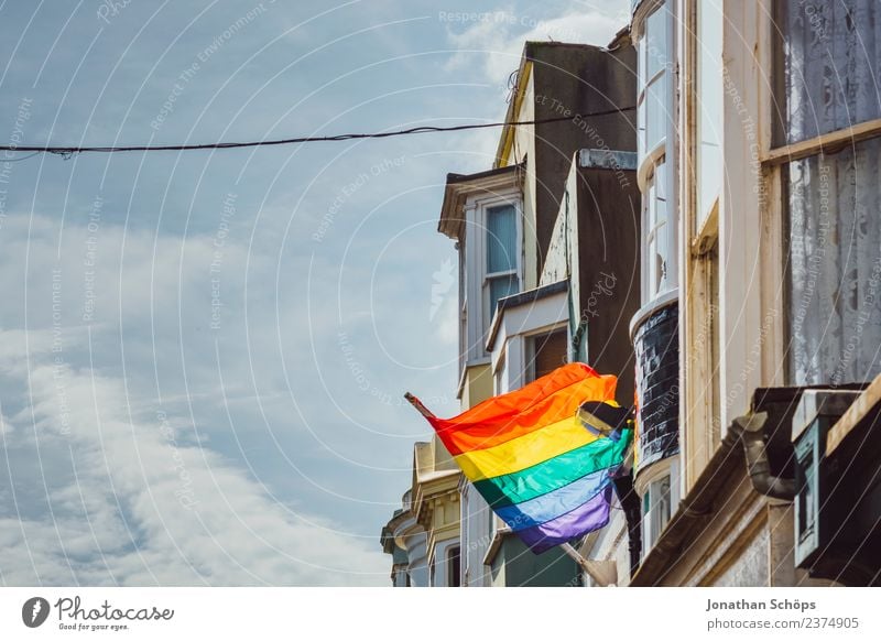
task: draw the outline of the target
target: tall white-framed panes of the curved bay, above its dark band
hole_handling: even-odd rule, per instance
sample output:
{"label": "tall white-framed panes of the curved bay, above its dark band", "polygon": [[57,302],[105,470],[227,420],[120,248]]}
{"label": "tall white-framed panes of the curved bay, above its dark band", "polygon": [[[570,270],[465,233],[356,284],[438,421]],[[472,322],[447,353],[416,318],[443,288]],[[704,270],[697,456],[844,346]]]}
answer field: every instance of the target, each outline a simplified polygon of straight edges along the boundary
{"label": "tall white-framed panes of the curved bay, above its dark band", "polygon": [[670,198],[673,176],[666,167],[667,159],[673,157],[667,149],[673,139],[672,18],[666,4],[660,3],[641,21],[638,35],[643,303],[676,286],[676,225]]}

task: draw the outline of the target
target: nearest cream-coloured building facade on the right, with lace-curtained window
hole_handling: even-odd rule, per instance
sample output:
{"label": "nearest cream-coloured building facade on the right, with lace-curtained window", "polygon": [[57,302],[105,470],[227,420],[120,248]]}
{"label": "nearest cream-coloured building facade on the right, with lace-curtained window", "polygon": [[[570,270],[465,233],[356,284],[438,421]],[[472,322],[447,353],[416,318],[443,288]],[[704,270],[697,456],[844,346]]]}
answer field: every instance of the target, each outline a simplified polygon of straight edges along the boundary
{"label": "nearest cream-coloured building facade on the right, with lace-curtained window", "polygon": [[634,6],[632,585],[879,580],[878,452],[836,453],[872,433],[860,390],[881,372],[879,18],[863,0]]}

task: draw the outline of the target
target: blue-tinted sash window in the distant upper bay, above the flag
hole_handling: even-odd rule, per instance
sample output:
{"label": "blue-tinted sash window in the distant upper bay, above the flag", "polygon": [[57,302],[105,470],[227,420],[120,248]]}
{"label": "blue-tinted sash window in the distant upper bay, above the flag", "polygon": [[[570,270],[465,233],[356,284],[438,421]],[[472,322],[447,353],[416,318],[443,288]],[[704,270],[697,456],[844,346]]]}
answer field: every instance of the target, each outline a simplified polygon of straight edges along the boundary
{"label": "blue-tinted sash window in the distant upper bay, above the flag", "polygon": [[486,263],[486,309],[483,336],[489,330],[499,298],[520,291],[518,278],[518,225],[516,208],[501,205],[487,208],[486,218],[487,263]]}

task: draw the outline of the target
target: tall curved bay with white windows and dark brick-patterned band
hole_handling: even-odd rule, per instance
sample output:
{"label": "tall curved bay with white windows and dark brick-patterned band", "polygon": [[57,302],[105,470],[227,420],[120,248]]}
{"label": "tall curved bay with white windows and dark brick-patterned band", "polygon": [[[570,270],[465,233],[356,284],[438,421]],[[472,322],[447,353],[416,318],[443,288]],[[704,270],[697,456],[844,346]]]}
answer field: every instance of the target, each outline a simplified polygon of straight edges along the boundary
{"label": "tall curved bay with white windows and dark brick-patterned band", "polygon": [[678,501],[678,207],[674,198],[676,3],[642,0],[633,14],[639,87],[637,177],[642,194],[642,307],[630,322],[635,356],[637,493],[643,500],[643,551]]}

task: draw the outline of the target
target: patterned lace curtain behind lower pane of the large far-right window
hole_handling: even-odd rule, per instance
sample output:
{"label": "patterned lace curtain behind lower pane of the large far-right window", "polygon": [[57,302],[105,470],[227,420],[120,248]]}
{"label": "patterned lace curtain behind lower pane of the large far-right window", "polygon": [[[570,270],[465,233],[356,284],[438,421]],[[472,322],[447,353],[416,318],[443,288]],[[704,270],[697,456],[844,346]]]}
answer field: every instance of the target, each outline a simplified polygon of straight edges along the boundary
{"label": "patterned lace curtain behind lower pane of the large far-right window", "polygon": [[881,140],[790,165],[790,379],[881,373]]}

